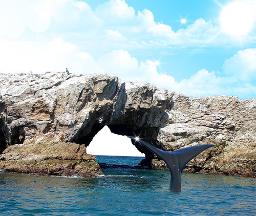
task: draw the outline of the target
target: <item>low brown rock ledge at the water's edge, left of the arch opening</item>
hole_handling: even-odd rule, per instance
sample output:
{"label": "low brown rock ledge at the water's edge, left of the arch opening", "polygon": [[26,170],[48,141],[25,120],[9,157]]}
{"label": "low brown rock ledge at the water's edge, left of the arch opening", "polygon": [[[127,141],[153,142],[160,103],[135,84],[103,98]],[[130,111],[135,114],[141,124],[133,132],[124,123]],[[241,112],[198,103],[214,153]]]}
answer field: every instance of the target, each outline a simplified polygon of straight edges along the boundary
{"label": "low brown rock ledge at the water's edge, left of the arch opening", "polygon": [[1,168],[41,176],[103,175],[95,157],[86,154],[86,146],[76,143],[16,144],[0,155]]}

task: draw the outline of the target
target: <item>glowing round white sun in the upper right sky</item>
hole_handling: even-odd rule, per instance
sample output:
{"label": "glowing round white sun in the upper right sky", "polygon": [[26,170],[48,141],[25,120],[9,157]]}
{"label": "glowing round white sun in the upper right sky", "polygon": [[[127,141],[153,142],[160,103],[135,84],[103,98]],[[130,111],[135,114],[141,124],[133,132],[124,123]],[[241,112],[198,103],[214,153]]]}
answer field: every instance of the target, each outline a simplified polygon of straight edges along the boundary
{"label": "glowing round white sun in the upper right sky", "polygon": [[219,20],[223,32],[233,37],[247,35],[253,28],[253,7],[250,1],[234,1],[223,7]]}

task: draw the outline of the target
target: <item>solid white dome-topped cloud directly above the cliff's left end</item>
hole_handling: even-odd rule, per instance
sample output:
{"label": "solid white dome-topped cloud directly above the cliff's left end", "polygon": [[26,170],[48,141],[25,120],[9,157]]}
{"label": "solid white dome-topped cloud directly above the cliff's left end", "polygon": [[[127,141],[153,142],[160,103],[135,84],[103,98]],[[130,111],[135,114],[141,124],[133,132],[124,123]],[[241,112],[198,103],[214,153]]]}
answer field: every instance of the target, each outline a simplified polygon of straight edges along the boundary
{"label": "solid white dome-topped cloud directly above the cliff's left end", "polygon": [[90,74],[99,71],[94,58],[60,38],[44,42],[0,42],[3,73],[65,71]]}

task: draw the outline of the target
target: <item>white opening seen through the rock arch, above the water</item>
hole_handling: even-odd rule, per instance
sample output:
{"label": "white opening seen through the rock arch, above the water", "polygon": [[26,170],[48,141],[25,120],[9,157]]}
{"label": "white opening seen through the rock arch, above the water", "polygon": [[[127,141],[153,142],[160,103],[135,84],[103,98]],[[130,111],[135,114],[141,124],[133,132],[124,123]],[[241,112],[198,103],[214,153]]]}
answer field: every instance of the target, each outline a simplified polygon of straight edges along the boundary
{"label": "white opening seen through the rock arch, above the water", "polygon": [[87,153],[91,155],[145,157],[145,155],[140,153],[132,144],[130,138],[111,133],[108,126],[104,126],[101,131],[95,135],[92,142],[87,147]]}

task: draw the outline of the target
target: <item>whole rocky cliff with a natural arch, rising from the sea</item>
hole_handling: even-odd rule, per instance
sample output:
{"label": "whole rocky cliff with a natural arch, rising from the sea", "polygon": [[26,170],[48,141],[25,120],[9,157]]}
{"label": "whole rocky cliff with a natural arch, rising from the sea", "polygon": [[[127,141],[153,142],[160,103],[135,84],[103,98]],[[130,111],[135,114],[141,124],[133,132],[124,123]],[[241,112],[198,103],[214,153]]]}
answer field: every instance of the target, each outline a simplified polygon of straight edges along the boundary
{"label": "whole rocky cliff with a natural arch, rising from the sea", "polygon": [[[187,171],[255,176],[256,99],[185,97],[108,74],[1,74],[0,82],[0,169],[101,175],[86,146],[108,125],[115,134],[141,134],[168,151],[216,145],[189,162]],[[146,155],[141,164],[166,169],[135,146]]]}

